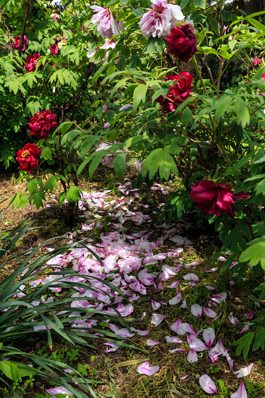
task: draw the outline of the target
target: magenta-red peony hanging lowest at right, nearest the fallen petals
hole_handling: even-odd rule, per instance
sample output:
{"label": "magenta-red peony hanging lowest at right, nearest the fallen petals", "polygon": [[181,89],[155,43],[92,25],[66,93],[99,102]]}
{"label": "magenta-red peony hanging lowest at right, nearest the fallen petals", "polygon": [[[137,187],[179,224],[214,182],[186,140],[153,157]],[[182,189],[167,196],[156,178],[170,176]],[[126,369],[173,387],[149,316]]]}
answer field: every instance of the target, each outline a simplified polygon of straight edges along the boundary
{"label": "magenta-red peony hanging lowest at right, nearest the fallen petals", "polygon": [[239,192],[234,194],[229,185],[216,184],[211,180],[197,182],[195,187],[191,187],[191,198],[198,204],[198,208],[206,214],[222,215],[235,217],[234,199],[247,198],[248,194]]}

